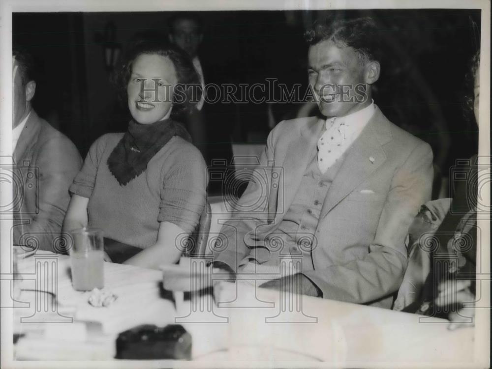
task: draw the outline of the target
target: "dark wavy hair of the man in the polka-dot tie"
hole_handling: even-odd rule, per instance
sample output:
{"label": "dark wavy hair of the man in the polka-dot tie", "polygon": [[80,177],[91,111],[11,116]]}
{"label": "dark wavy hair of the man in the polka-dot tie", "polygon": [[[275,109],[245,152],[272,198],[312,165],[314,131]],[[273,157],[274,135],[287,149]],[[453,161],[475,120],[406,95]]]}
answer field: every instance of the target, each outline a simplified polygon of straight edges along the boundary
{"label": "dark wavy hair of the man in the polka-dot tie", "polygon": [[361,63],[381,61],[379,29],[372,18],[330,18],[324,23],[315,22],[305,33],[309,45],[330,40],[339,46],[355,50]]}

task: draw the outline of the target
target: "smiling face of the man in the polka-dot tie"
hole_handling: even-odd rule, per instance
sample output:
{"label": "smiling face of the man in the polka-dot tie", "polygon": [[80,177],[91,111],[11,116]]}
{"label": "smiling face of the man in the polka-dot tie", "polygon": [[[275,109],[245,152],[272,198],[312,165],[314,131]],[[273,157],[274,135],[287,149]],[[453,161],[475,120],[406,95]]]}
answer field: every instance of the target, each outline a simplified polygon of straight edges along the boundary
{"label": "smiling face of the man in the polka-dot tie", "polygon": [[309,47],[308,79],[320,112],[328,118],[354,113],[371,103],[370,84],[375,81],[368,79],[367,66],[351,47],[330,40]]}

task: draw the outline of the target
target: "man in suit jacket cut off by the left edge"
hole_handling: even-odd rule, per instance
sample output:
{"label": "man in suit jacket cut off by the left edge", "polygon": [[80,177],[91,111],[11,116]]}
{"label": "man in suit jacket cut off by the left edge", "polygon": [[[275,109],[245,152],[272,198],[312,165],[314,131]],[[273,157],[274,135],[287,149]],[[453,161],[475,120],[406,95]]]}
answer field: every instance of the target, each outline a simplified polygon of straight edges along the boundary
{"label": "man in suit jacket cut off by the left edge", "polygon": [[75,145],[31,107],[36,91],[34,63],[14,50],[13,244],[62,251],[58,238],[70,200],[68,187],[82,166]]}

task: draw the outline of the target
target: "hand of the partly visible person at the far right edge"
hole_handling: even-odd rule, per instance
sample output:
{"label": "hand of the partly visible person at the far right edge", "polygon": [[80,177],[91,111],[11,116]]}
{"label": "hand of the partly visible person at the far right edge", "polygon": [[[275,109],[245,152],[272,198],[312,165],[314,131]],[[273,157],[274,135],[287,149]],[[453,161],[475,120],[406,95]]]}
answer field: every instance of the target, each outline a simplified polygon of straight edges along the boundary
{"label": "hand of the partly visible person at the far right edge", "polygon": [[[439,293],[435,299],[435,304],[437,306],[460,306],[459,309],[448,315],[448,319],[451,321],[448,326],[450,330],[475,325],[475,295],[470,291],[470,285],[470,280],[445,281],[439,284]],[[466,305],[461,306],[462,303],[466,303]],[[471,322],[468,318],[472,319]]]}

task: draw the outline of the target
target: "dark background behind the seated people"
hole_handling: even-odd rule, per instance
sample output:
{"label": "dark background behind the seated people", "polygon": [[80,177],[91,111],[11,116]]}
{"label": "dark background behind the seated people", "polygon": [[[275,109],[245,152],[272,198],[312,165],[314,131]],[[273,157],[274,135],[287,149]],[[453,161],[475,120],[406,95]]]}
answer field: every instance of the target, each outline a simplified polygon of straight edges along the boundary
{"label": "dark background behind the seated people", "polygon": [[[448,172],[457,158],[478,151],[478,128],[463,117],[465,74],[478,49],[480,10],[365,10],[383,29],[385,57],[374,100],[395,124],[429,142],[436,164]],[[143,35],[167,38],[172,12],[15,13],[13,41],[35,57],[40,73],[33,106],[87,153],[106,132],[124,131],[127,109],[116,98],[105,48],[122,55]],[[206,83],[265,83],[265,78],[307,86],[303,34],[328,11],[200,12],[205,24],[202,64]],[[475,27],[473,26],[475,23]],[[114,36],[108,29],[114,27]],[[220,106],[218,107],[220,109]],[[299,104],[274,104],[276,122],[294,117]],[[267,104],[229,104],[221,121],[234,142],[266,139]],[[216,128],[214,128],[216,127]]]}

